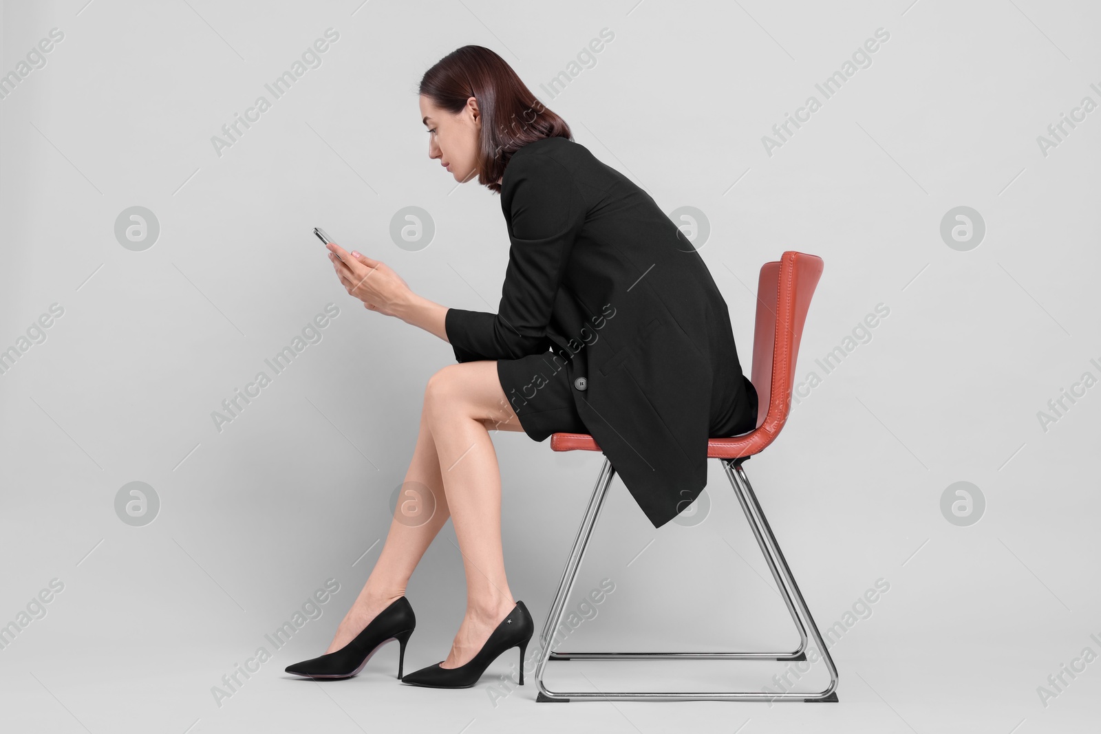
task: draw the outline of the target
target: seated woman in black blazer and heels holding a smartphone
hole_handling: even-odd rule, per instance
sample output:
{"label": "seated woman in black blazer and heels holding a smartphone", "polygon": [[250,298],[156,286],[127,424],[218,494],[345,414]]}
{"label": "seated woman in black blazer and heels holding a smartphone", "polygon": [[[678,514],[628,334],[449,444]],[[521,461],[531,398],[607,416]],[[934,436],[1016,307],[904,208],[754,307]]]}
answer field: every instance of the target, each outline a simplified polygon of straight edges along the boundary
{"label": "seated woman in black blazer and heels holding a smartphone", "polygon": [[406,482],[436,510],[395,517],[374,569],[325,655],[290,666],[313,678],[356,675],[415,617],[405,588],[454,519],[467,611],[447,658],[403,682],[467,687],[534,623],[505,579],[501,481],[491,429],[591,435],[655,527],[707,482],[707,439],[752,430],[757,398],[742,374],[727,304],[707,266],[641,188],[571,139],[495,53],[464,46],[425,73],[428,156],[458,182],[501,195],[511,249],[498,314],[447,308],[389,266],[330,244],[329,260],[366,308],[448,341],[457,364],[427,383]]}

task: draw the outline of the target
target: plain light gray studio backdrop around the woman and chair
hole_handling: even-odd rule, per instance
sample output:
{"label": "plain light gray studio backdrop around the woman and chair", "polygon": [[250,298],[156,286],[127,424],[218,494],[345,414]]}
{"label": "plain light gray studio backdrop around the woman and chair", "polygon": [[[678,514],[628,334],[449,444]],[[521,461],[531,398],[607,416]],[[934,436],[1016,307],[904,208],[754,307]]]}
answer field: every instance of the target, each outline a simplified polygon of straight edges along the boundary
{"label": "plain light gray studio backdrop around the woman and chair", "polygon": [[[1045,706],[1037,687],[1101,653],[1097,462],[1101,387],[1045,430],[1037,413],[1101,376],[1101,110],[1045,156],[1036,138],[1101,102],[1094,3],[396,3],[120,0],[2,3],[2,73],[64,40],[0,100],[0,349],[59,304],[46,339],[0,375],[0,623],[64,590],[0,649],[0,728],[50,732],[1095,730],[1099,670]],[[340,36],[218,156],[210,138],[327,28]],[[614,40],[552,97],[601,29]],[[872,37],[890,33],[781,149],[762,136]],[[574,703],[534,687],[399,686],[396,646],[357,678],[283,668],[324,651],[381,548],[426,380],[450,348],[351,299],[310,235],[393,266],[424,296],[495,310],[500,200],[427,157],[416,83],[451,50],[500,53],[576,140],[672,212],[705,212],[700,248],[752,355],[756,274],[784,250],[826,263],[799,381],[821,379],[745,468],[831,648],[841,703]],[[161,232],[120,245],[143,206]],[[390,221],[427,210],[428,247]],[[968,206],[982,242],[949,248]],[[325,305],[340,315],[218,432],[224,398]],[[890,315],[836,370],[877,304]],[[863,332],[860,332],[863,333]],[[1069,404],[1068,404],[1069,405]],[[497,434],[510,583],[542,624],[599,469]],[[573,649],[768,649],[796,635],[712,462],[710,511],[655,532],[617,480],[577,590],[615,591]],[[120,487],[160,499],[143,527]],[[941,495],[968,481],[980,522]],[[211,688],[334,578],[340,590],[219,706]],[[866,609],[877,579],[890,591]],[[442,659],[461,618],[450,524],[414,574],[406,667]],[[569,602],[575,609],[577,598]],[[553,666],[554,664],[552,664]],[[553,687],[760,689],[782,664],[558,664]],[[565,666],[565,669],[562,667]],[[771,666],[771,667],[770,667]],[[804,690],[825,684],[821,666]],[[1069,680],[1069,679],[1068,679]],[[500,690],[500,689],[498,689]]]}

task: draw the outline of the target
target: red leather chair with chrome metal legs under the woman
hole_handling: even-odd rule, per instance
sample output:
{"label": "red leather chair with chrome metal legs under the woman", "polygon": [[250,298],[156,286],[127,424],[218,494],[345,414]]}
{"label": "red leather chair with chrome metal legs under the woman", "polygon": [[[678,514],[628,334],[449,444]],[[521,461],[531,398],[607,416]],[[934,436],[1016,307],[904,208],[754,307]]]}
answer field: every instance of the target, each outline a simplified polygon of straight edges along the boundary
{"label": "red leather chair with chrome metal legs under the woman", "polygon": [[[541,637],[541,656],[535,668],[535,682],[538,690],[536,701],[807,701],[836,702],[838,700],[837,668],[822,640],[821,633],[810,616],[810,610],[803,599],[803,593],[795,583],[792,570],[784,559],[784,554],[776,543],[776,537],[765,519],[764,512],[757,503],[750,486],[750,481],[742,467],[750,457],[760,453],[771,445],[787,420],[792,401],[792,386],[795,376],[795,361],[799,351],[799,338],[806,321],[807,309],[818,278],[821,276],[822,261],[816,255],[803,252],[787,251],[778,262],[765,263],[761,267],[757,282],[756,322],[753,333],[753,369],[751,380],[760,397],[757,408],[757,427],[741,436],[711,438],[708,440],[707,456],[719,459],[723,463],[727,478],[730,480],[741,504],[745,518],[749,521],[757,545],[764,554],[772,576],[776,580],[784,602],[787,604],[792,620],[799,632],[799,647],[792,653],[557,653],[550,649],[552,636],[562,623],[566,600],[574,588],[577,570],[585,556],[586,546],[592,535],[592,528],[600,515],[608,487],[615,470],[608,458],[604,458],[600,475],[585,512],[585,518],[577,532],[569,560],[563,572],[546,624]],[[767,398],[767,399],[765,399]],[[553,434],[550,448],[555,451],[600,451],[593,438],[586,434]],[[809,631],[815,647],[821,655],[829,670],[830,683],[819,693],[800,693],[781,691],[768,693],[763,691],[729,691],[729,692],[591,692],[591,691],[552,691],[543,681],[544,669],[548,660],[684,660],[684,659],[722,659],[722,660],[806,660],[807,633]],[[805,672],[800,669],[800,672]]]}

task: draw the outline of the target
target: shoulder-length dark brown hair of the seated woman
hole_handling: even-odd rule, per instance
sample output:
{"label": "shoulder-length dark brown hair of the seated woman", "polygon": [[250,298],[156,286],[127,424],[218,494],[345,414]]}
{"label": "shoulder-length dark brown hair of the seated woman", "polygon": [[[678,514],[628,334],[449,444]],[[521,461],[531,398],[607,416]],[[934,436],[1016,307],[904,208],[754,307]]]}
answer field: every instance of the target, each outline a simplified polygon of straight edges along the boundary
{"label": "shoulder-length dark brown hair of the seated woman", "polygon": [[484,46],[462,46],[421,78],[419,94],[440,109],[459,112],[473,97],[481,116],[478,183],[500,194],[497,183],[512,154],[536,140],[573,140],[569,125],[524,86],[508,62]]}

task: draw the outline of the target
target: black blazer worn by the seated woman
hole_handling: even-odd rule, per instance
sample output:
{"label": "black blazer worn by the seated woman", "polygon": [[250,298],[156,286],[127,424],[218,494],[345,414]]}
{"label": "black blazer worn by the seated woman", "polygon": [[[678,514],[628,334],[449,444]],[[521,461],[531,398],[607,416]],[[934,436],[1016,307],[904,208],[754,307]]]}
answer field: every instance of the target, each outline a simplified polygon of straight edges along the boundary
{"label": "black blazer worn by the seated woman", "polygon": [[448,309],[455,359],[549,349],[568,361],[571,385],[588,380],[571,391],[586,427],[664,525],[707,483],[719,385],[743,379],[707,265],[648,194],[565,138],[513,153],[501,209],[512,241],[501,304],[498,314]]}

